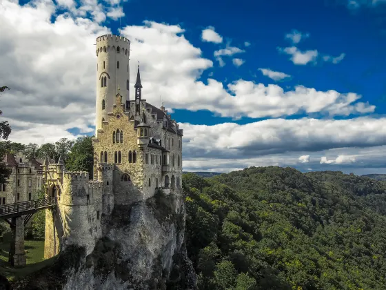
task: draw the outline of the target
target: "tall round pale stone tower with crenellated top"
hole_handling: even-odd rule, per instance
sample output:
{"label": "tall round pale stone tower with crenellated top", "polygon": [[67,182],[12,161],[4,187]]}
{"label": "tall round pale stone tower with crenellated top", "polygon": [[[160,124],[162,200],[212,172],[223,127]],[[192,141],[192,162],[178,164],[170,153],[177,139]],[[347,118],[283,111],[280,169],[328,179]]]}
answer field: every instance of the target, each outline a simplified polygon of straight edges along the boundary
{"label": "tall round pale stone tower with crenellated top", "polygon": [[95,132],[102,128],[112,112],[115,96],[122,95],[122,102],[129,100],[130,88],[130,41],[117,35],[103,35],[96,38],[96,120]]}

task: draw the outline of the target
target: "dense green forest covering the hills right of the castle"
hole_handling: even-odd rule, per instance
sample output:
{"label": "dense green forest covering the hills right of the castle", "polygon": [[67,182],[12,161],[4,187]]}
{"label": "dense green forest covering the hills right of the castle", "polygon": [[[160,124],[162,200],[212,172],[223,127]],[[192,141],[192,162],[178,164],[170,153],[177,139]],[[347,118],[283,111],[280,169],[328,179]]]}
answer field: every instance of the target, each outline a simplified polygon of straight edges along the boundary
{"label": "dense green forest covering the hills right of the castle", "polygon": [[386,289],[386,182],[269,166],[183,188],[199,289]]}

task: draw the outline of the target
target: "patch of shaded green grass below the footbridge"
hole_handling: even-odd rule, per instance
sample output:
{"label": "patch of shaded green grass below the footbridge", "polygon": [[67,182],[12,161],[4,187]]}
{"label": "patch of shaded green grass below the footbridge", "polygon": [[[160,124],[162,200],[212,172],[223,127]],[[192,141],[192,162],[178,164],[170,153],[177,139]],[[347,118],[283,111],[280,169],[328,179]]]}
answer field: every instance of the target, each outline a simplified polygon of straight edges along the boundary
{"label": "patch of shaded green grass below the footbridge", "polygon": [[38,271],[39,269],[52,264],[54,258],[43,260],[44,240],[26,240],[24,247],[27,251],[27,266],[23,268],[12,268],[8,263],[8,251],[10,249],[10,232],[3,235],[0,242],[0,273],[8,280],[13,281]]}

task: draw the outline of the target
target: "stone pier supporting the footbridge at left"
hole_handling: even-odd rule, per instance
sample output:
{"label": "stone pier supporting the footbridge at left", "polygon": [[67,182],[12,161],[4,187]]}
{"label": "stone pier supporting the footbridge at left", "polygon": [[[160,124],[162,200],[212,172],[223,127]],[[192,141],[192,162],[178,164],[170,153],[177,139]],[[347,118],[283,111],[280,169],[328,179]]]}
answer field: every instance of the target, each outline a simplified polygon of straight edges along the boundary
{"label": "stone pier supporting the footbridge at left", "polygon": [[11,247],[9,262],[12,267],[25,267],[26,251],[24,251],[24,217],[12,218],[11,226]]}

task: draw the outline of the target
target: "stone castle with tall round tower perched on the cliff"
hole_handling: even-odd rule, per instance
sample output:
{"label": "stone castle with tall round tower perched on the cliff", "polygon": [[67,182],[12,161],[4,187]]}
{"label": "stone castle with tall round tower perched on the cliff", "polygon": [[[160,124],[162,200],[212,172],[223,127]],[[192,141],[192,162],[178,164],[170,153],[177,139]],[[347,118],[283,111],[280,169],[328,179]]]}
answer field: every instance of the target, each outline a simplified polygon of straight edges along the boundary
{"label": "stone castle with tall round tower perched on the cliff", "polygon": [[98,37],[96,56],[94,176],[66,171],[61,159],[44,160],[45,194],[58,203],[45,210],[45,258],[68,244],[91,253],[102,236],[101,218],[116,204],[145,201],[159,189],[181,194],[183,130],[163,106],[142,98],[139,67],[130,99],[130,41]]}

